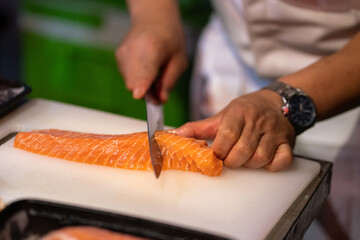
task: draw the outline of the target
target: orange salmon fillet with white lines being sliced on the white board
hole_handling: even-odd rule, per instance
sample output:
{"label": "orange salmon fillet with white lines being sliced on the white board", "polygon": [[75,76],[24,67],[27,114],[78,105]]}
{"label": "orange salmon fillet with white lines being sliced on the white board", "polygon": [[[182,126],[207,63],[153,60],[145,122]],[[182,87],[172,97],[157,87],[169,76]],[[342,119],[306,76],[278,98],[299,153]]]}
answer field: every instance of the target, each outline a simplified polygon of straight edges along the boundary
{"label": "orange salmon fillet with white lines being sliced on the white board", "polygon": [[[219,176],[223,162],[205,141],[166,131],[155,139],[163,154],[163,170],[178,169]],[[57,129],[16,135],[14,147],[50,157],[134,170],[152,170],[147,132],[123,135],[80,133]]]}

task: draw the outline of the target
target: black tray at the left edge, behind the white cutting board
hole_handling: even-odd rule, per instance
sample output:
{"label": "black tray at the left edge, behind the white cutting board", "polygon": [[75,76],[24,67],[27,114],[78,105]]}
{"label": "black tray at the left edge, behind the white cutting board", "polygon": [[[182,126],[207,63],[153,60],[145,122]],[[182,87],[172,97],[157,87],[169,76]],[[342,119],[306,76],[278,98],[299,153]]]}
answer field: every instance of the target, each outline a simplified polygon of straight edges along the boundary
{"label": "black tray at the left edge, behind the white cutting board", "polygon": [[0,117],[19,106],[30,92],[25,84],[0,78]]}

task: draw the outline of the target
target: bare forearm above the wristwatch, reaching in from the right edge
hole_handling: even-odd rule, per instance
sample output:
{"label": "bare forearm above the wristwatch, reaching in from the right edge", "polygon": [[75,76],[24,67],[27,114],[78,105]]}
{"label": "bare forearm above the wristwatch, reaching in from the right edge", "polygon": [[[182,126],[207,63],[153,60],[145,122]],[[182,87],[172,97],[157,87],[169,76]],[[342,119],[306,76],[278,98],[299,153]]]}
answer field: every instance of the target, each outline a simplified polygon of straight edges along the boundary
{"label": "bare forearm above the wristwatch, reaching in from the right edge", "polygon": [[360,33],[343,49],[279,79],[299,87],[314,101],[318,120],[360,104]]}

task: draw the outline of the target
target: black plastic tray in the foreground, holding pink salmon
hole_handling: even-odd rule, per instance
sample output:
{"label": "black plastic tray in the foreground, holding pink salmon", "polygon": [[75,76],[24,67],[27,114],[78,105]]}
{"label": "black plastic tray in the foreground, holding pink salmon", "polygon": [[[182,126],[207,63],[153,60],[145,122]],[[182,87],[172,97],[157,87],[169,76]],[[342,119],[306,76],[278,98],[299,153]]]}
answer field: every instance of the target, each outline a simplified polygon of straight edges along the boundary
{"label": "black plastic tray in the foreground, holding pink salmon", "polygon": [[41,200],[20,200],[0,212],[0,239],[38,239],[51,230],[80,225],[150,239],[225,239],[141,218]]}

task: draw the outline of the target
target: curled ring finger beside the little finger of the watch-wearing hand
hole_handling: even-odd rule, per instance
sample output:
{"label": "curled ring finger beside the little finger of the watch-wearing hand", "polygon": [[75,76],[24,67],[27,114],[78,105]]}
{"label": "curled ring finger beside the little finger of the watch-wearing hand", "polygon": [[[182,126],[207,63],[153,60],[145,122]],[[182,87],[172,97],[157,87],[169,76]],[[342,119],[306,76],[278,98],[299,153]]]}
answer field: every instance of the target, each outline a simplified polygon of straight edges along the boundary
{"label": "curled ring finger beside the little finger of the watch-wearing hand", "polygon": [[243,165],[246,168],[261,168],[269,163],[275,155],[277,145],[274,144],[274,137],[265,134],[261,137],[260,143],[252,157]]}

